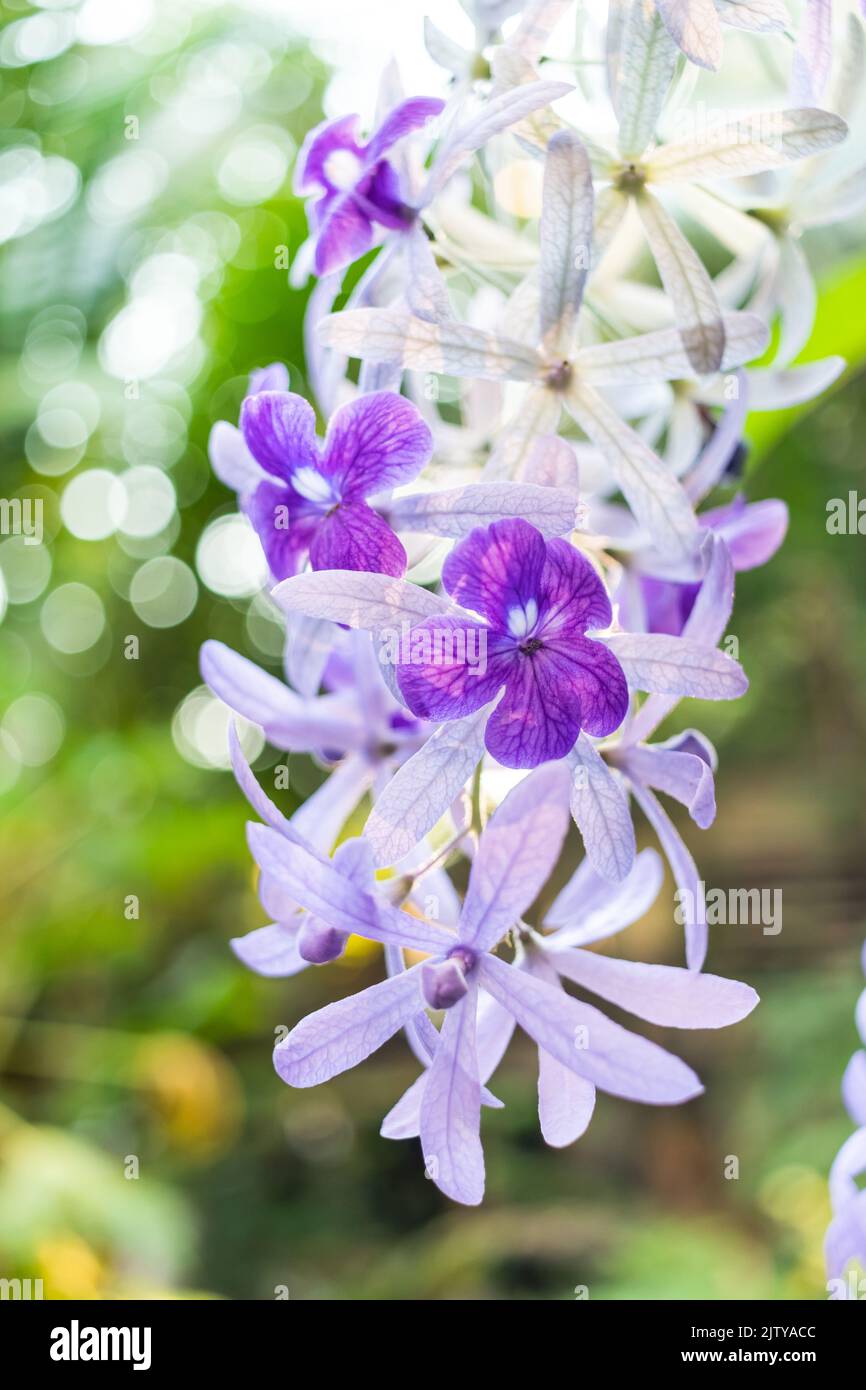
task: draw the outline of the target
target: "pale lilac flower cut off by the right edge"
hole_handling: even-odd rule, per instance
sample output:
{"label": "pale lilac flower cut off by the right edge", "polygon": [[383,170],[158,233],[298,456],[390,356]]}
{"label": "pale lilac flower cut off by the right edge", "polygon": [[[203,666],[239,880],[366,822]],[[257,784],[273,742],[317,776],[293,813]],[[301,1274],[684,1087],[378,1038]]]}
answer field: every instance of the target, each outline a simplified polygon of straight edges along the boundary
{"label": "pale lilac flower cut off by the right edge", "polygon": [[[862,951],[866,974],[866,945]],[[860,994],[856,1026],[866,1048],[866,990]],[[824,1238],[827,1291],[834,1300],[858,1300],[866,1291],[866,1051],[851,1058],[842,1077],[842,1099],[859,1129],[845,1140],[830,1169],[833,1220]]]}

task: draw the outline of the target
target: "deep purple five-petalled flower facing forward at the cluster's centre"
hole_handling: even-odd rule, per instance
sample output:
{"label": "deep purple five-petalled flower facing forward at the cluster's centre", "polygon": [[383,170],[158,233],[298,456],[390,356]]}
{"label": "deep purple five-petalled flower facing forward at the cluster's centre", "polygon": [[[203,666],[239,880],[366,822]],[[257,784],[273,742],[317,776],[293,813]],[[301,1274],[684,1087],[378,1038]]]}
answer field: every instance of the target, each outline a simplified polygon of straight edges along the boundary
{"label": "deep purple five-petalled flower facing forward at the cluster's centre", "polygon": [[[616,657],[588,628],[610,626],[605,585],[567,541],[545,541],[521,520],[474,530],[448,556],[442,582],[481,623],[431,617],[413,632],[430,660],[398,666],[413,713],[461,719],[505,687],[487,723],[488,751],[506,767],[563,758],[581,731],[610,734],[628,708]],[[484,652],[470,664],[466,652]]]}

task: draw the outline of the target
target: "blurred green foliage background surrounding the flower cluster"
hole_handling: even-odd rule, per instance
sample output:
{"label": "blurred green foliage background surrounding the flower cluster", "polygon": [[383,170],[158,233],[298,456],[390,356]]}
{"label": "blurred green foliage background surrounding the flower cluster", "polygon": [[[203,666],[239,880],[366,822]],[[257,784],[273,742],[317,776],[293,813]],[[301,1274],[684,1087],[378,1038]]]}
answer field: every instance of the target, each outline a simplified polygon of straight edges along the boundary
{"label": "blurred green foliage background surrounding the flower cluster", "polygon": [[[18,3],[4,19],[28,13]],[[267,58],[240,110],[107,231],[85,195],[126,149],[126,117],[146,145],[189,65],[225,44]],[[414,1076],[402,1041],[321,1091],[292,1093],[271,1069],[274,1029],[378,979],[375,951],[281,983],[247,974],[228,949],[263,920],[245,805],[228,774],[179,756],[170,727],[199,684],[206,637],[261,659],[247,602],[202,585],[183,623],[143,626],[124,596],[142,555],[61,528],[57,499],[74,474],[35,474],[25,453],[42,388],[22,353],[38,316],[61,306],[83,316],[76,379],[103,404],[76,468],[124,467],[118,420],[136,403],[101,368],[100,335],[142,254],[188,245],[203,213],[221,214],[238,235],[202,282],[204,352],[170,460],[179,527],[153,550],[171,543],[195,564],[203,528],[234,505],[207,471],[213,421],[236,417],[249,370],[271,360],[304,389],[306,292],[274,267],[275,246],[303,239],[303,210],[288,179],[238,206],[214,170],[261,121],[297,145],[321,118],[325,78],[302,39],[224,6],[186,26],[167,18],[149,49],[71,49],[1,74],[3,147],[25,140],[71,160],[82,193],[0,250],[0,491],[43,498],[46,594],[88,584],[107,627],[95,649],[63,656],[40,630],[44,594],[0,623],[0,714],[40,691],[67,726],[57,756],[0,801],[0,1275],[43,1277],[56,1298],[271,1298],[281,1286],[292,1298],[566,1300],[575,1286],[591,1298],[824,1297],[826,1173],[851,1127],[838,1080],[856,1042],[866,902],[865,542],[828,537],[826,506],[862,485],[866,261],[847,245],[823,267],[806,354],[845,352],[847,384],[812,411],[749,421],[748,492],[791,506],[785,548],[738,587],[751,694],[677,714],[699,720],[721,758],[716,824],[685,828],[706,883],[784,892],[778,937],[720,929],[712,942],[710,967],[752,981],[763,1004],[724,1036],[667,1038],[706,1083],[698,1102],[653,1111],[602,1097],[587,1137],[563,1152],[539,1140],[534,1056],[517,1045],[498,1077],[506,1109],[485,1112],[488,1198],[456,1209],[424,1180],[416,1144],[378,1137]],[[143,382],[142,400],[158,391]],[[136,662],[124,659],[128,634]],[[293,760],[286,809],[320,777]],[[124,915],[129,894],[138,920]],[[631,930],[628,954],[680,960],[670,901]],[[730,1156],[737,1180],[724,1176]]]}

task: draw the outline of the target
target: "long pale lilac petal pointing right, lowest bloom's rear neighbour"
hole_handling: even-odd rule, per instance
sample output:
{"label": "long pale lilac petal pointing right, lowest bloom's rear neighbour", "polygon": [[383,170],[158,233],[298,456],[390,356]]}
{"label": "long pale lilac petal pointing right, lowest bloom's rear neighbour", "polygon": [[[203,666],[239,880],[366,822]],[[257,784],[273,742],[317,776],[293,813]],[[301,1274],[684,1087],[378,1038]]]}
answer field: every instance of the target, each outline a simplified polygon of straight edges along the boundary
{"label": "long pale lilac petal pointing right, lowest bloom's rear neighbour", "polygon": [[669,1029],[723,1029],[745,1019],[758,1004],[748,984],[681,966],[619,960],[569,947],[548,949],[546,955],[567,980],[638,1019]]}

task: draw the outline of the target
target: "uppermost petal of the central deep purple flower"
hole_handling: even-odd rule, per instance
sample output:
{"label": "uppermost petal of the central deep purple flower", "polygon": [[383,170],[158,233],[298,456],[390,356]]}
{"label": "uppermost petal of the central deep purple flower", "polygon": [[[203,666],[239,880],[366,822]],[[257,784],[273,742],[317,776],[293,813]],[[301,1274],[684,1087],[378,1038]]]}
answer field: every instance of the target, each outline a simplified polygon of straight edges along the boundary
{"label": "uppermost petal of the central deep purple flower", "polygon": [[512,610],[528,616],[537,609],[546,553],[544,537],[528,521],[493,521],[455,546],[442,566],[442,584],[463,607],[507,632]]}

